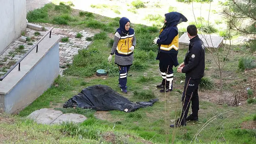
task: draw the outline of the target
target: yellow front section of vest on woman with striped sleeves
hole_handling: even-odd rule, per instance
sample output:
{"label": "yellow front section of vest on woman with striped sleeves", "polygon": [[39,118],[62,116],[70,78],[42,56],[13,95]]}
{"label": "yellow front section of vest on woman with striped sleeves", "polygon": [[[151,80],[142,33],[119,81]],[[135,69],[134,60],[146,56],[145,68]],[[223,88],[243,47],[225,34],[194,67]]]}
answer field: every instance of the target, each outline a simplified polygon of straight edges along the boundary
{"label": "yellow front section of vest on woman with striped sleeves", "polygon": [[119,54],[131,54],[133,51],[129,50],[129,48],[132,46],[132,40],[133,40],[133,35],[125,35],[121,36],[121,39],[118,42],[118,46],[116,47],[116,51]]}

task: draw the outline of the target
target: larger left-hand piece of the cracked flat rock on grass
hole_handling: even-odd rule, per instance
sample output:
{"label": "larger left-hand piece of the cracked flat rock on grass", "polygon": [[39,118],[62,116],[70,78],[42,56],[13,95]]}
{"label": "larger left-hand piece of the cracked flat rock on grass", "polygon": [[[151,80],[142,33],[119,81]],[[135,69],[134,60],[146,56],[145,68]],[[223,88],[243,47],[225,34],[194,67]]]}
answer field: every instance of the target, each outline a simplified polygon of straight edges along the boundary
{"label": "larger left-hand piece of the cracked flat rock on grass", "polygon": [[51,124],[62,114],[59,110],[39,109],[31,113],[27,118],[34,119],[40,124]]}

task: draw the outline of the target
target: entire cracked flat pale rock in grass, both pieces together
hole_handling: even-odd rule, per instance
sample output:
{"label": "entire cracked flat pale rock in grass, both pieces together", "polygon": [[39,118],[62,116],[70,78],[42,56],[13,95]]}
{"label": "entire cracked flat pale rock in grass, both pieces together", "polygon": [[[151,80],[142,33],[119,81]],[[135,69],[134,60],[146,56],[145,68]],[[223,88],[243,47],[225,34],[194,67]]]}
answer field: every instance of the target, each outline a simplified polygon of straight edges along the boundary
{"label": "entire cracked flat pale rock in grass, both pieces together", "polygon": [[79,123],[85,121],[87,118],[81,114],[67,113],[63,114],[59,110],[54,109],[40,109],[31,113],[27,118],[34,119],[39,124],[60,124],[62,122],[74,122]]}

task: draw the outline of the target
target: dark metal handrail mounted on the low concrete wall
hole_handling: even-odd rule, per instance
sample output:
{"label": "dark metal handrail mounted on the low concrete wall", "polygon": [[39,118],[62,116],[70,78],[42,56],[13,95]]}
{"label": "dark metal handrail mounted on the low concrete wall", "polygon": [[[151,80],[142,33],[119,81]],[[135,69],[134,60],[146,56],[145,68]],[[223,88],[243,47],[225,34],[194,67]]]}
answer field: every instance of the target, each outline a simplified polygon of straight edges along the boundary
{"label": "dark metal handrail mounted on the low concrete wall", "polygon": [[16,64],[14,64],[14,65],[12,66],[12,68],[9,69],[9,70],[0,78],[0,81],[2,81],[17,65],[19,65],[18,71],[21,71],[21,61],[22,61],[31,51],[33,51],[33,49],[34,49],[35,47],[37,47],[36,53],[38,53],[38,44],[39,44],[49,33],[50,33],[50,36],[49,36],[49,37],[51,38],[52,29],[54,29],[54,27],[51,27],[51,29],[48,30],[48,31],[46,32],[46,34],[44,34],[44,36],[43,36],[35,45],[33,45],[33,47],[32,47],[29,51],[27,51],[24,56],[23,56],[19,61],[17,61]]}

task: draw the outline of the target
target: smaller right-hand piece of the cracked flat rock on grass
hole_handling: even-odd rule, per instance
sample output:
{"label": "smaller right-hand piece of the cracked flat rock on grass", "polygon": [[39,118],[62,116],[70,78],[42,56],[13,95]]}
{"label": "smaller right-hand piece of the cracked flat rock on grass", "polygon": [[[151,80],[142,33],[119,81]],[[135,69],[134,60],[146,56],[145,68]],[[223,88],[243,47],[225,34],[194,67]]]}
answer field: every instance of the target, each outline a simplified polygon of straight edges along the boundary
{"label": "smaller right-hand piece of the cracked flat rock on grass", "polygon": [[80,123],[80,122],[84,122],[86,119],[87,118],[81,114],[66,113],[66,114],[61,114],[57,119],[55,119],[55,121],[52,122],[52,124],[60,124],[64,121]]}

